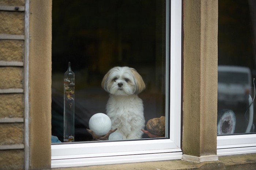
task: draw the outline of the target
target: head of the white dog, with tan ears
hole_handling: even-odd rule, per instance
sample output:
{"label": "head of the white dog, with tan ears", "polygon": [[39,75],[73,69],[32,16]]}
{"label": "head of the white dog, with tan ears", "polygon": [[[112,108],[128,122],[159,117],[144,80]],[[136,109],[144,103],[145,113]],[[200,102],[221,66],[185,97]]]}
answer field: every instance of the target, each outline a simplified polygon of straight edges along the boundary
{"label": "head of the white dog, with tan ears", "polygon": [[104,76],[102,88],[113,95],[139,94],[145,89],[142,77],[134,68],[114,67]]}

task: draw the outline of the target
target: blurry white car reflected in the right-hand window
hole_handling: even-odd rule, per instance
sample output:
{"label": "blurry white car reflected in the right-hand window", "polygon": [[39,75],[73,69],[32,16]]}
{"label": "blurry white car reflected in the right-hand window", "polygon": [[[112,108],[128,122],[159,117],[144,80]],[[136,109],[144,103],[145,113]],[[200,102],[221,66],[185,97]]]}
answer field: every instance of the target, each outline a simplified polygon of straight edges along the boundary
{"label": "blurry white car reflected in the right-hand window", "polygon": [[251,83],[248,67],[218,66],[218,101],[229,104],[246,102]]}

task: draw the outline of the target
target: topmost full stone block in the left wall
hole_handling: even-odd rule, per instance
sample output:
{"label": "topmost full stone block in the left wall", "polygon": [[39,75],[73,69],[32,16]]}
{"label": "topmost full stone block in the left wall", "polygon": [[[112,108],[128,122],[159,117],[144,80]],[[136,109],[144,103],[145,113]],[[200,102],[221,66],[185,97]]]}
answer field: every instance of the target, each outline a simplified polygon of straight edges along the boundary
{"label": "topmost full stone block in the left wall", "polygon": [[0,11],[0,34],[24,35],[25,13]]}

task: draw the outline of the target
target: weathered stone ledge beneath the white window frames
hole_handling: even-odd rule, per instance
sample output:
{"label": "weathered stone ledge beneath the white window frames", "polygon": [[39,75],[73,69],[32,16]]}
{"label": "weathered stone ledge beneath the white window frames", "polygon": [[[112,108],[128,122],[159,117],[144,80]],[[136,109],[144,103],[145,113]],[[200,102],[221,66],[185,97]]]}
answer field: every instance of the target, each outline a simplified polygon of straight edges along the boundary
{"label": "weathered stone ledge beneath the white window frames", "polygon": [[[256,154],[243,154],[232,156],[221,156],[219,161],[214,162],[186,162],[181,160],[157,161],[142,163],[124,163],[114,165],[114,169],[254,169],[256,167]],[[63,168],[65,169],[65,168]],[[99,165],[87,167],[73,167],[70,170],[112,170],[113,165]]]}

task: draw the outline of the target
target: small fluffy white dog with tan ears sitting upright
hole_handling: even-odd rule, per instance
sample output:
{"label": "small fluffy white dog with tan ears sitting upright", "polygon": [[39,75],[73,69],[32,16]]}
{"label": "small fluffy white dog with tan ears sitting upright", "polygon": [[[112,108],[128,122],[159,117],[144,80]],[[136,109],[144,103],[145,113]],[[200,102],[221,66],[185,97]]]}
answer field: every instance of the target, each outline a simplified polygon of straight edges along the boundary
{"label": "small fluffy white dog with tan ears sitting upright", "polygon": [[110,94],[106,113],[111,119],[112,129],[117,128],[123,139],[142,138],[145,118],[138,94],[146,86],[139,73],[130,67],[114,67],[104,76],[101,86]]}

